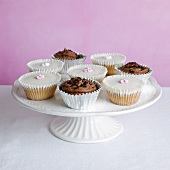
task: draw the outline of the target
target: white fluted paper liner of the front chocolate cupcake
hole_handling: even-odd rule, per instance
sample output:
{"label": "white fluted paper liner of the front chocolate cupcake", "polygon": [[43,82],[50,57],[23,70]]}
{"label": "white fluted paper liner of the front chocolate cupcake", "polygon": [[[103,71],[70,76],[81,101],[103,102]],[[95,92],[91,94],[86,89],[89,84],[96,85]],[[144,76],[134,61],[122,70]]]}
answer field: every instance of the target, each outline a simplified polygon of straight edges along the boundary
{"label": "white fluted paper liner of the front chocolate cupcake", "polygon": [[58,85],[58,90],[60,92],[63,101],[68,107],[77,110],[85,110],[95,104],[99,92],[101,90],[100,83],[98,83],[97,81],[93,81],[93,82],[97,85],[98,89],[92,93],[85,93],[85,94],[78,94],[78,95],[68,94],[60,90],[62,83]]}

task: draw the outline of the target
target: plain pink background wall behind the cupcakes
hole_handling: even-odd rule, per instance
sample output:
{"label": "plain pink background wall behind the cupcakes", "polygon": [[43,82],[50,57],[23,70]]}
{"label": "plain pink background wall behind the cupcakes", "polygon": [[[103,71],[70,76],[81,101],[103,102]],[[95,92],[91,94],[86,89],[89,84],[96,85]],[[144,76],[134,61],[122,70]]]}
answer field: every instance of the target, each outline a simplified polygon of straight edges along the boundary
{"label": "plain pink background wall behind the cupcakes", "polygon": [[170,86],[169,7],[169,0],[0,0],[0,84],[67,47],[86,63],[94,53],[123,53]]}

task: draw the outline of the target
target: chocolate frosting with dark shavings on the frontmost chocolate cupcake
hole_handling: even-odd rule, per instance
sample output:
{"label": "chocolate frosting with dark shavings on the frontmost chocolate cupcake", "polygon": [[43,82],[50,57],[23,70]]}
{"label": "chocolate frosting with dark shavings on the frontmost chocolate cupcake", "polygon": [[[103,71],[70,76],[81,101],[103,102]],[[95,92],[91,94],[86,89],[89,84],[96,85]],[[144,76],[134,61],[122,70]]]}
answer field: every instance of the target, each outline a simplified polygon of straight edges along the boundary
{"label": "chocolate frosting with dark shavings on the frontmost chocolate cupcake", "polygon": [[97,90],[97,86],[90,80],[75,77],[63,82],[60,89],[66,93],[76,95],[93,92]]}

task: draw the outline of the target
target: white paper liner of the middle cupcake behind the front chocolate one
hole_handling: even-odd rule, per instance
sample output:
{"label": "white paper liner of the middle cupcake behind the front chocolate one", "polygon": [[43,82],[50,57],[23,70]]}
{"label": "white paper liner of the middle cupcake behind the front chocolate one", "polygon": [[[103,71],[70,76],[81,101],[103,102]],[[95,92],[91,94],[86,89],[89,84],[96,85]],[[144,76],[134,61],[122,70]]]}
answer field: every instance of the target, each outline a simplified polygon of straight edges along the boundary
{"label": "white paper liner of the middle cupcake behind the front chocolate one", "polygon": [[[93,67],[96,67],[96,68],[98,68],[98,69],[103,69],[103,73],[102,73],[102,74],[99,74],[99,75],[94,75],[94,76],[93,76],[93,75],[89,75],[88,73],[87,73],[87,74],[84,74],[84,75],[72,73],[72,70],[74,70],[75,68],[81,68],[81,66],[86,66],[87,68],[90,67],[90,66],[93,66]],[[91,79],[91,80],[96,80],[96,81],[102,81],[102,80],[104,79],[104,77],[106,76],[106,73],[107,73],[107,68],[106,68],[106,67],[100,66],[100,65],[93,65],[93,64],[76,65],[76,66],[70,67],[70,68],[67,70],[67,74],[68,74],[71,78],[81,77],[81,78],[86,78],[86,79]]]}

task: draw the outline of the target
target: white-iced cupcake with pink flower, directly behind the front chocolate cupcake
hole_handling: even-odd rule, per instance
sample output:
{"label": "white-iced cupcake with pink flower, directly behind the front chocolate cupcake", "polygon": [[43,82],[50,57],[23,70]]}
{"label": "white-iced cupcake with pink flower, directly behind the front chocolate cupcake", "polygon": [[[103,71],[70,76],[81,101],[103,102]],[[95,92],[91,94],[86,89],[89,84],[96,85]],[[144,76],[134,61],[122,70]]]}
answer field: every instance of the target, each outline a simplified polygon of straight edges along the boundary
{"label": "white-iced cupcake with pink flower, directly behind the front chocolate cupcake", "polygon": [[81,77],[96,80],[101,83],[104,77],[106,76],[107,68],[94,64],[80,64],[70,67],[67,70],[67,73],[71,78]]}

